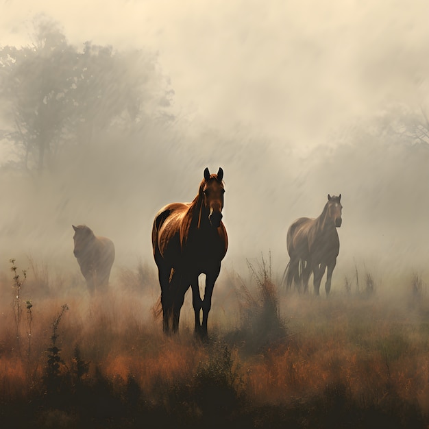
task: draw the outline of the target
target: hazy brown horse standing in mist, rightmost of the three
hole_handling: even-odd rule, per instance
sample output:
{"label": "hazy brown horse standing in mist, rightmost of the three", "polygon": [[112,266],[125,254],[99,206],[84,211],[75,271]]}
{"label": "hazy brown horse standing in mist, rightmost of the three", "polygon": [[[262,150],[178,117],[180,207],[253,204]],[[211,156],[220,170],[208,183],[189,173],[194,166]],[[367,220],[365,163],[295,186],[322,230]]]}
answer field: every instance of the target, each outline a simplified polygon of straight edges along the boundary
{"label": "hazy brown horse standing in mist, rightmost of the three", "polygon": [[329,295],[332,272],[339,254],[340,241],[336,228],[341,226],[341,194],[328,195],[328,202],[317,219],[300,217],[289,227],[287,232],[287,250],[291,260],[283,275],[286,289],[291,289],[292,282],[304,292],[308,289],[308,280],[313,273],[315,295],[319,295],[320,282],[328,267],[325,290]]}

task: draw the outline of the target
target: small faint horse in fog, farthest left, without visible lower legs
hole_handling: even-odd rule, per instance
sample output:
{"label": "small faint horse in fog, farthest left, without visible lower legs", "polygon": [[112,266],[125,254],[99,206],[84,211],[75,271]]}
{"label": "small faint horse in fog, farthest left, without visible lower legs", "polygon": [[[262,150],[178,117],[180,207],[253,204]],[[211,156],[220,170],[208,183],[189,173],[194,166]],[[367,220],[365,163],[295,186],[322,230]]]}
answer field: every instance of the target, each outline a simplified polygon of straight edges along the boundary
{"label": "small faint horse in fog, farthest left, without visible lower legs", "polygon": [[114,262],[114,244],[106,237],[95,236],[86,225],[72,225],[75,234],[73,254],[86,280],[90,295],[106,290]]}

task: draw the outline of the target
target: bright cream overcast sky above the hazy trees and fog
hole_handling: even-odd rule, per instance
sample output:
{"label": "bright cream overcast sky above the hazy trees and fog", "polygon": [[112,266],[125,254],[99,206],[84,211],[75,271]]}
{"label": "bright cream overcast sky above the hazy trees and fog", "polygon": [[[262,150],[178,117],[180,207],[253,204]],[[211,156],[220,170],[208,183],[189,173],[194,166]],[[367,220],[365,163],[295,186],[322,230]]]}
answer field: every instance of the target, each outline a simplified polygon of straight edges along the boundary
{"label": "bright cream overcast sky above the hazy trees and fog", "polygon": [[27,44],[44,13],[73,44],[157,51],[186,117],[301,148],[388,102],[419,102],[427,86],[426,0],[6,0],[1,9],[3,45]]}

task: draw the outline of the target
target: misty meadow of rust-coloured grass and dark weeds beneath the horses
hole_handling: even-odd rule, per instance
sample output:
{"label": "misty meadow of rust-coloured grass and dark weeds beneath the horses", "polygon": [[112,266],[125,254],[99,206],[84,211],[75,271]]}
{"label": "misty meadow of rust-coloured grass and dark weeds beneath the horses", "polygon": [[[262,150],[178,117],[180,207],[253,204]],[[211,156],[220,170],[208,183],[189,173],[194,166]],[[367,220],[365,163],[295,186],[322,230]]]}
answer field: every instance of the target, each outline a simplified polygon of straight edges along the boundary
{"label": "misty meadow of rust-coloured grass and dark weeds beneath the horses", "polygon": [[77,271],[10,267],[0,277],[2,428],[429,425],[429,299],[417,274],[395,295],[370,273],[359,290],[337,279],[327,299],[286,293],[269,262],[247,262],[223,271],[201,342],[189,292],[180,334],[162,334],[151,265],[117,269],[92,298]]}

